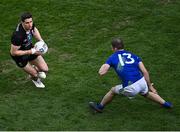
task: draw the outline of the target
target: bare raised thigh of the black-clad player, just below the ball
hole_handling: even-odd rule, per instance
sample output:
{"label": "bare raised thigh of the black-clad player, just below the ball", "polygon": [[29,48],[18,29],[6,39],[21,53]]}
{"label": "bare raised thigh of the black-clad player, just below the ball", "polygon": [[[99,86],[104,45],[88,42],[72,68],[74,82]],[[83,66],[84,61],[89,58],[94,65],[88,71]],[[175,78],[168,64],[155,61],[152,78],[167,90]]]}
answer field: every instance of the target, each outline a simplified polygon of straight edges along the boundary
{"label": "bare raised thigh of the black-clad player, just below the ball", "polygon": [[30,63],[35,65],[40,71],[48,72],[48,65],[41,55],[39,55],[36,59],[30,61]]}

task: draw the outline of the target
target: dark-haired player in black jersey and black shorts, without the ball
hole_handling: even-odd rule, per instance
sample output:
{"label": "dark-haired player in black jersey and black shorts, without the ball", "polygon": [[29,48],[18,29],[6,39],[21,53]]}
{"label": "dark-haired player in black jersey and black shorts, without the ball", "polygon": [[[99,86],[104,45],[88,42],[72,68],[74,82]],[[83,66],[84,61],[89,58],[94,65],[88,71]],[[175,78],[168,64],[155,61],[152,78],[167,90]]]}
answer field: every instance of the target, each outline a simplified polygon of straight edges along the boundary
{"label": "dark-haired player in black jersey and black shorts, without the ball", "polygon": [[46,77],[48,66],[41,52],[35,50],[32,44],[33,37],[37,41],[43,41],[33,24],[32,15],[24,13],[21,15],[21,22],[12,34],[10,55],[17,66],[31,76],[36,87],[44,88],[45,85],[41,82],[41,78]]}

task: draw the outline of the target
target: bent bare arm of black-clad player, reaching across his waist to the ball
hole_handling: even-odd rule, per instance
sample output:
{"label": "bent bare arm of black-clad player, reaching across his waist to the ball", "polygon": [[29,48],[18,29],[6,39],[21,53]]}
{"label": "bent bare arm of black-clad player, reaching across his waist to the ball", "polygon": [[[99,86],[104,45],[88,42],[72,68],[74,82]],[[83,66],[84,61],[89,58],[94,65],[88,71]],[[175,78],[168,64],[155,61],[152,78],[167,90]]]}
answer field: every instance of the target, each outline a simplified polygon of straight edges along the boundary
{"label": "bent bare arm of black-clad player, reaching across his waist to the ball", "polygon": [[12,56],[21,56],[21,55],[29,55],[32,54],[34,51],[32,49],[30,50],[19,50],[20,46],[15,46],[11,44],[11,50],[10,53]]}

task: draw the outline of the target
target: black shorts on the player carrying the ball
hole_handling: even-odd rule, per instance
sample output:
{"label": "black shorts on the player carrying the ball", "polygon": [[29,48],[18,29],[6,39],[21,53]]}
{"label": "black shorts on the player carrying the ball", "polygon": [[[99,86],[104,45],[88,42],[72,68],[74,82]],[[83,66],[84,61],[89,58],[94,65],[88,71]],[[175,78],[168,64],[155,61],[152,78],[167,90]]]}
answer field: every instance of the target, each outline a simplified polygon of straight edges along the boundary
{"label": "black shorts on the player carrying the ball", "polygon": [[29,61],[35,60],[37,55],[22,55],[22,56],[12,56],[12,59],[16,62],[16,65],[23,68],[27,65]]}

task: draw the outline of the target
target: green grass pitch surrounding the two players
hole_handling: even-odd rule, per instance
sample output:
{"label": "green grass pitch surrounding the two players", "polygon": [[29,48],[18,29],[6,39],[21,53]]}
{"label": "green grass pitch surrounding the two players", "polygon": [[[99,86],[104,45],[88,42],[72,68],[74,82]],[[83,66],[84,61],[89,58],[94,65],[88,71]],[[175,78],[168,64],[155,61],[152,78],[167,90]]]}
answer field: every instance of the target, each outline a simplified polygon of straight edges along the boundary
{"label": "green grass pitch surrounding the two players", "polygon": [[[24,11],[49,46],[45,89],[35,88],[9,56]],[[1,0],[0,130],[180,130],[179,23],[179,0]],[[113,70],[97,74],[115,37],[142,58],[172,110],[139,95],[116,96],[102,114],[89,110],[89,101],[120,83]]]}

